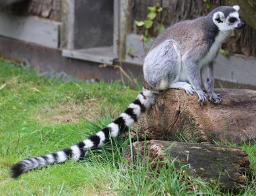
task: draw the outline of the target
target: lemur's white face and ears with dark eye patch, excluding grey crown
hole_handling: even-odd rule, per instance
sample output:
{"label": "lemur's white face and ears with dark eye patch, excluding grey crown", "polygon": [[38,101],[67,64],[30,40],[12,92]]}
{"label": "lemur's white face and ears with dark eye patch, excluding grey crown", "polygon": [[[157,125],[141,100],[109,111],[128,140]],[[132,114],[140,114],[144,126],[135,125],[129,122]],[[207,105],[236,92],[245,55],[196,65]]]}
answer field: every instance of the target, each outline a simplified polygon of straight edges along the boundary
{"label": "lemur's white face and ears with dark eye patch, excluding grey crown", "polygon": [[220,31],[241,29],[245,26],[245,22],[239,18],[238,11],[240,7],[238,5],[234,5],[233,8],[234,11],[226,14],[226,16],[222,11],[214,13],[212,20],[214,21],[214,24],[218,26]]}

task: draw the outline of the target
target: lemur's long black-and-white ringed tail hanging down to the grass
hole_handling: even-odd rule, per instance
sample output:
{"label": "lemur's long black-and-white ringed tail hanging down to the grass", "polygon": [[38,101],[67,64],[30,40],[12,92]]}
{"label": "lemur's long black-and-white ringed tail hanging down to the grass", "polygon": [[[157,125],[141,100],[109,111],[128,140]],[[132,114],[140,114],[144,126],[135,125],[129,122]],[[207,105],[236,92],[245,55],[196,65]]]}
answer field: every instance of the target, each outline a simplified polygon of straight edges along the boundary
{"label": "lemur's long black-and-white ringed tail hanging down to the grass", "polygon": [[138,119],[141,114],[146,112],[155,102],[155,93],[152,90],[143,88],[142,92],[137,98],[129,104],[128,108],[123,112],[115,121],[110,123],[104,129],[101,129],[95,135],[88,137],[79,143],[65,148],[59,152],[54,152],[44,156],[28,158],[22,160],[11,167],[12,177],[17,178],[20,174],[46,166],[48,164],[55,164],[65,162],[66,160],[73,159],[79,160],[87,156],[90,148],[98,148],[104,144],[105,139],[110,137],[117,137],[121,131],[129,129]]}

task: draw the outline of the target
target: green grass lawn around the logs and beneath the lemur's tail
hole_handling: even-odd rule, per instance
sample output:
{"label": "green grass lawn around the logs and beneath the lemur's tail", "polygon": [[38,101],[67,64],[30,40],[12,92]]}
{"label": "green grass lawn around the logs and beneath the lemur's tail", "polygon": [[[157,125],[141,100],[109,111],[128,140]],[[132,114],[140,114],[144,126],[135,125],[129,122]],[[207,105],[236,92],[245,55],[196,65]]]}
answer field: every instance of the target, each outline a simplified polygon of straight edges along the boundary
{"label": "green grass lawn around the logs and beneath the lemur's tail", "polygon": [[[147,162],[127,166],[122,159],[130,143],[126,137],[110,141],[82,162],[47,166],[14,180],[9,175],[13,163],[85,139],[117,117],[138,92],[117,82],[46,79],[5,61],[0,61],[0,89],[0,195],[221,194],[217,185],[192,178],[182,168],[169,166],[158,174]],[[256,145],[242,148],[255,171]],[[255,195],[255,184],[245,194]]]}

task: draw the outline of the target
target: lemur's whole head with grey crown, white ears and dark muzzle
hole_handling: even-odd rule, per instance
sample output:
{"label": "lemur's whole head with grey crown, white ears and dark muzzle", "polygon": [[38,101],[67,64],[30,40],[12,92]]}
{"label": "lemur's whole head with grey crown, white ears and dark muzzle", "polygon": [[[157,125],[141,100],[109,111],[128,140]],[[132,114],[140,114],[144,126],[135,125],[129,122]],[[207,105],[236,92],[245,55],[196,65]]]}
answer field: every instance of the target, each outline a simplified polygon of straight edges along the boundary
{"label": "lemur's whole head with grey crown, white ears and dark muzzle", "polygon": [[239,9],[238,5],[221,6],[214,9],[210,15],[220,31],[241,29],[245,26],[245,22],[239,18]]}

